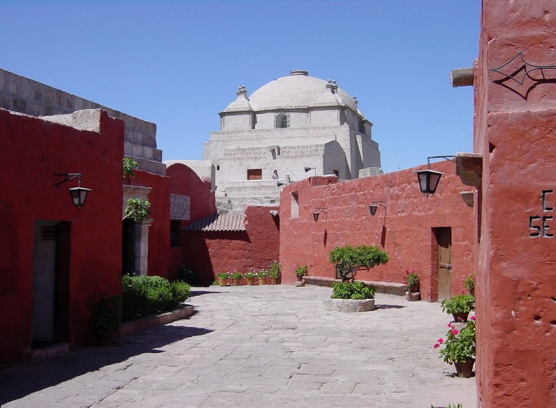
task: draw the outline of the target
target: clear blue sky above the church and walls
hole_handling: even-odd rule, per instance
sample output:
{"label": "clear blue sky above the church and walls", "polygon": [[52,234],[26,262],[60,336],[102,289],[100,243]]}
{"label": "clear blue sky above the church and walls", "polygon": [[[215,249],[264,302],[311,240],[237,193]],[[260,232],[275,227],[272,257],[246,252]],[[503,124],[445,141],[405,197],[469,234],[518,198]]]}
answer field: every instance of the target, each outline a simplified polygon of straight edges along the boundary
{"label": "clear blue sky above the church and walls", "polygon": [[290,70],[335,79],[373,122],[384,171],[471,152],[480,0],[0,0],[0,67],[158,127],[202,159],[218,112]]}

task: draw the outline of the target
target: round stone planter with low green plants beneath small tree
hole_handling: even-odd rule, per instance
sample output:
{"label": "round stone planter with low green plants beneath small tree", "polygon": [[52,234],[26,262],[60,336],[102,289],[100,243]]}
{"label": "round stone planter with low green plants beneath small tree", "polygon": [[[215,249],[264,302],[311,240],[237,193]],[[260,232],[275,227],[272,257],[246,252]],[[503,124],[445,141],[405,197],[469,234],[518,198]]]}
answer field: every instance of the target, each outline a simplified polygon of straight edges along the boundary
{"label": "round stone planter with low green plants beneath small tree", "polygon": [[361,281],[335,282],[325,309],[334,311],[369,311],[375,309],[376,288]]}

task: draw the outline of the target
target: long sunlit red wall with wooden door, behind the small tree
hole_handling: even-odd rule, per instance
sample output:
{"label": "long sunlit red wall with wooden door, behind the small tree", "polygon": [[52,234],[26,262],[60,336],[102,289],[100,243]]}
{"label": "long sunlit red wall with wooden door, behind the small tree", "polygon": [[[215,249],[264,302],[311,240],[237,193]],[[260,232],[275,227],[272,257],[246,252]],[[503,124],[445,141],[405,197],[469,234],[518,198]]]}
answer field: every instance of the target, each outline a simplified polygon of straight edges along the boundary
{"label": "long sunlit red wall with wooden door, behind the small tree", "polygon": [[[344,245],[376,245],[389,254],[386,266],[357,273],[359,280],[403,283],[405,271],[420,276],[421,296],[436,300],[437,253],[434,228],[452,229],[452,295],[464,290],[473,272],[473,209],[461,199],[464,186],[455,164],[445,161],[433,168],[445,173],[436,194],[418,190],[415,170],[383,174],[336,183],[335,177],[311,177],[284,188],[281,193],[280,261],[282,281],[293,283],[297,266],[308,266],[309,276],[335,277],[328,254]],[[291,216],[297,193],[299,216]],[[368,205],[384,201],[375,216]],[[320,209],[320,210],[318,210]],[[319,211],[318,222],[313,212]]]}

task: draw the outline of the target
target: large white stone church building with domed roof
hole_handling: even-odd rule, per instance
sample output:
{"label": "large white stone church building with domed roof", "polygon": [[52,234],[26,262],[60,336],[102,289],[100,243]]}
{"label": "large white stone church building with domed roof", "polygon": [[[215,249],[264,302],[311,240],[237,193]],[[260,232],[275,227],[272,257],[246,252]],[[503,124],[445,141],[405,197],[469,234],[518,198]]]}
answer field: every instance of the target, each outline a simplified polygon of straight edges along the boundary
{"label": "large white stone church building with domed roof", "polygon": [[380,172],[372,124],[336,81],[291,71],[220,112],[204,160],[213,165],[219,211],[276,204],[280,186],[313,175],[356,179]]}

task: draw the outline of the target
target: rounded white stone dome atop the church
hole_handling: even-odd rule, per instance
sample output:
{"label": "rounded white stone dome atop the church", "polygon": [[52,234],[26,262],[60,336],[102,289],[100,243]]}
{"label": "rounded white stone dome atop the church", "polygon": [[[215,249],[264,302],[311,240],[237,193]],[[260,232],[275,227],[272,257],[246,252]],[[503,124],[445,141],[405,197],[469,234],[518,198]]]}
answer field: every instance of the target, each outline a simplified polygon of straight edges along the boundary
{"label": "rounded white stone dome atop the church", "polygon": [[[253,111],[274,111],[316,106],[349,106],[357,111],[355,101],[335,83],[309,76],[306,71],[292,71],[261,86],[249,98]],[[334,94],[332,93],[334,91]]]}

